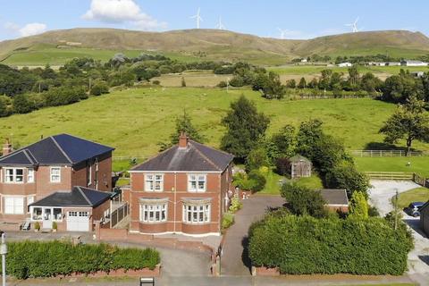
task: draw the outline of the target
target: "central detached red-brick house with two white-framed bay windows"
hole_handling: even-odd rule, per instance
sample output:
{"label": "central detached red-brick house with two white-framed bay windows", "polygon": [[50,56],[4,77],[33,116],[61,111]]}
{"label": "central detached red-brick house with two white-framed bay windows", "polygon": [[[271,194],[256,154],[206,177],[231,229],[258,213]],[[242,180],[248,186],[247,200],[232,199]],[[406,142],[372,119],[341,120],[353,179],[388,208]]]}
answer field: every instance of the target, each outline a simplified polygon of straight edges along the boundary
{"label": "central detached red-brick house with two white-framed bay windows", "polygon": [[232,196],[231,154],[181,135],[130,170],[130,231],[219,234]]}

